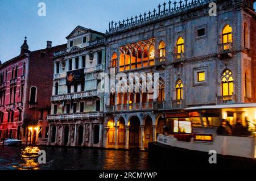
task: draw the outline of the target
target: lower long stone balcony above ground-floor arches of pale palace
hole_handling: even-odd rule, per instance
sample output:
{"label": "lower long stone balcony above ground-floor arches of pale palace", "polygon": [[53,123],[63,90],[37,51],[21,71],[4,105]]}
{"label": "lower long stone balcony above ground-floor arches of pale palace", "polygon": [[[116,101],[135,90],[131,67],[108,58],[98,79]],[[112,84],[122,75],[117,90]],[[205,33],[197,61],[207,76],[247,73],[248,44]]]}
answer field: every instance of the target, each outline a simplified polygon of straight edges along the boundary
{"label": "lower long stone balcony above ground-floor arches of pale palace", "polygon": [[88,113],[65,113],[60,115],[49,115],[47,119],[49,121],[54,120],[68,120],[68,119],[89,119],[89,118],[97,118],[102,117],[103,114],[101,112],[88,112]]}

